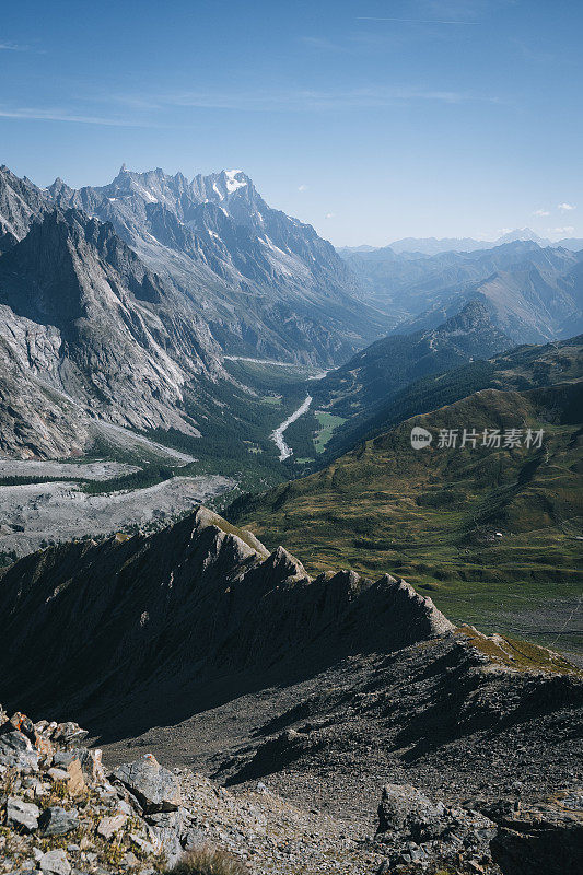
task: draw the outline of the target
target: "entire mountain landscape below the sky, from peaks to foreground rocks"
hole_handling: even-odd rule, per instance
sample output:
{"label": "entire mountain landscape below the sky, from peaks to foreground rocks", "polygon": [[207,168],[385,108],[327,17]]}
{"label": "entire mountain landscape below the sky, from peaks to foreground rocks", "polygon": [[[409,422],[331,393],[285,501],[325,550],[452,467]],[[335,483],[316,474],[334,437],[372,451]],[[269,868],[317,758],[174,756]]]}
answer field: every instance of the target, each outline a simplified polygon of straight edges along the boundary
{"label": "entire mountain landscape below the sky, from peaks to foreground rocks", "polygon": [[571,859],[576,241],[337,252],[125,165],[3,166],[0,231],[0,699],[48,719],[0,707],[0,873],[524,875],[541,820]]}

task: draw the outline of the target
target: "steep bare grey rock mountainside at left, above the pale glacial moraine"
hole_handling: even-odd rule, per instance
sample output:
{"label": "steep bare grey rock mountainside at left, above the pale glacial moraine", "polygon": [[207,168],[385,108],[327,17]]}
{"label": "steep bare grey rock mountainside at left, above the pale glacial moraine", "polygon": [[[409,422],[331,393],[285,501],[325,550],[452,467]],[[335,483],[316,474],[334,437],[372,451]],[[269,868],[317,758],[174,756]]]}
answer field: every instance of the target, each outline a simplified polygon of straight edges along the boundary
{"label": "steep bare grey rock mountainside at left, above the pale glacial moraine", "polygon": [[113,232],[75,210],[49,213],[0,260],[7,416],[23,457],[88,444],[91,419],[196,435],[185,386],[226,378],[206,324]]}

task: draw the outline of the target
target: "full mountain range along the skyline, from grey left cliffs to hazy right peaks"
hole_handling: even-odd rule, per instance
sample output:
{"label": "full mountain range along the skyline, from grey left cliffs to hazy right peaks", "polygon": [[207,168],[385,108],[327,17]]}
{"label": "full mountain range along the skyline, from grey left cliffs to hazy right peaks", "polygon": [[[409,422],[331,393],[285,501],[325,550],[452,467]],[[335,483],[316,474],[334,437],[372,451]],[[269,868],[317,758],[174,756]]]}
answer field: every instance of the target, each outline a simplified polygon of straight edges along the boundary
{"label": "full mountain range along the skyline, from grey left cliffs to hazy right peaks", "polygon": [[[431,257],[360,252],[347,264],[240,171],[188,182],[123,167],[109,185],[74,190],[2,167],[0,250],[0,447],[23,457],[82,453],[101,421],[210,436],[225,410],[246,453],[241,441],[256,440],[266,410],[225,355],[340,364],[315,392],[346,417],[347,380],[370,383],[350,415],[403,388],[403,361],[390,364],[399,343],[413,380],[583,326],[576,253],[514,241]],[[460,338],[467,313],[480,313],[481,334],[465,348],[445,341],[442,326],[453,319]],[[398,337],[380,339],[390,330]]]}

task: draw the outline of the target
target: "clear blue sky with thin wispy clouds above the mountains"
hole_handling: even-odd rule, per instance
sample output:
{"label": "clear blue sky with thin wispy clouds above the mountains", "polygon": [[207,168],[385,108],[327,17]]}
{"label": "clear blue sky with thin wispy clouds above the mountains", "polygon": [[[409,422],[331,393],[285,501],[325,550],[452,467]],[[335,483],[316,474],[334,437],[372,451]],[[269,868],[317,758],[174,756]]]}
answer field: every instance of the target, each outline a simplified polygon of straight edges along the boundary
{"label": "clear blue sky with thin wispy clouds above the mountains", "polygon": [[247,172],[338,245],[583,236],[579,0],[5,3],[0,163]]}

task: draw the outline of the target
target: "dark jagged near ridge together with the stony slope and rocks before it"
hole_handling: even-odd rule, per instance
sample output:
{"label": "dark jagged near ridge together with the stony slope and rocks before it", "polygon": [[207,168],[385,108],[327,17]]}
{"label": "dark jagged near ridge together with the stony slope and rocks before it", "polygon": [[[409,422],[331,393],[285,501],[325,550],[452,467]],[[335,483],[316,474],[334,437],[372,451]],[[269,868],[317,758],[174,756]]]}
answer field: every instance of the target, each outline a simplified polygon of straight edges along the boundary
{"label": "dark jagged near ridge together with the stony slope and rocks before it", "polygon": [[200,508],[27,557],[0,594],[2,697],[69,702],[108,743],[104,771],[78,724],[2,715],[7,872],[153,875],[209,841],[257,875],[576,860],[576,670],[456,629],[403,580],[312,580]]}

